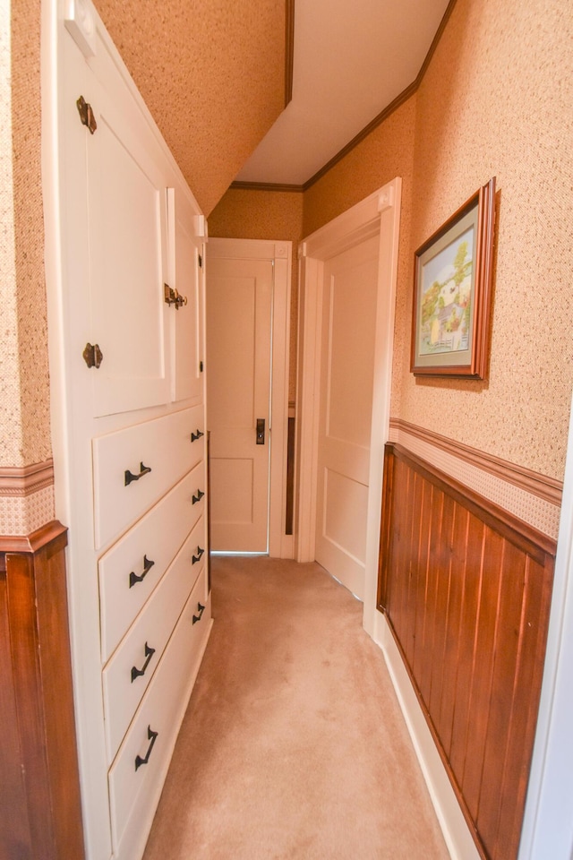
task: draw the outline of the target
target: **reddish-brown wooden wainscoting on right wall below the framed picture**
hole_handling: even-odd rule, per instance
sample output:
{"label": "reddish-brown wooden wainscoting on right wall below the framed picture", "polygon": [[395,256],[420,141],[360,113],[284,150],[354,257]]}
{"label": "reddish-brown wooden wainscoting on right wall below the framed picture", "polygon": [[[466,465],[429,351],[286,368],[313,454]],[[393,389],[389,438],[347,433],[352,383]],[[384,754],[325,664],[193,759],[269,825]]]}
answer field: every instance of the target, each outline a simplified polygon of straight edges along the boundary
{"label": "reddish-brown wooden wainscoting on right wall below the framed picture", "polygon": [[378,606],[478,850],[513,860],[555,541],[397,444],[384,473]]}

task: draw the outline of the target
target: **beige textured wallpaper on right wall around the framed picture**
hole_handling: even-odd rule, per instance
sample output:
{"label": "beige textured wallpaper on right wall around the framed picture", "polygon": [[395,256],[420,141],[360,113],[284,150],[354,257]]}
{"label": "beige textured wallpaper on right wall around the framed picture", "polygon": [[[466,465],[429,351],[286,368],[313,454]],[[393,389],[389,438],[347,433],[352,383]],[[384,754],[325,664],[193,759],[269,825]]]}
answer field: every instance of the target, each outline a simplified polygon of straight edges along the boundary
{"label": "beige textured wallpaper on right wall around the framed picture", "polygon": [[[306,234],[404,178],[392,415],[557,478],[573,378],[572,70],[569,0],[458,0],[415,99],[304,199]],[[490,380],[415,380],[415,248],[493,175]]]}

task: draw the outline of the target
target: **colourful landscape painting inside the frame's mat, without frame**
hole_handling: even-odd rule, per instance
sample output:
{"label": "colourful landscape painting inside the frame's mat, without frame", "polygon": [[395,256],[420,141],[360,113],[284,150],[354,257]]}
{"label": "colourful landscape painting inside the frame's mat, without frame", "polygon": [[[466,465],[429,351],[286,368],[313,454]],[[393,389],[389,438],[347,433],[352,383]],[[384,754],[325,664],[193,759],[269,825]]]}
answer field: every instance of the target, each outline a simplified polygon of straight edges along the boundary
{"label": "colourful landscape painting inside the frame's mat, without frame", "polygon": [[420,355],[467,349],[473,258],[471,228],[423,267]]}

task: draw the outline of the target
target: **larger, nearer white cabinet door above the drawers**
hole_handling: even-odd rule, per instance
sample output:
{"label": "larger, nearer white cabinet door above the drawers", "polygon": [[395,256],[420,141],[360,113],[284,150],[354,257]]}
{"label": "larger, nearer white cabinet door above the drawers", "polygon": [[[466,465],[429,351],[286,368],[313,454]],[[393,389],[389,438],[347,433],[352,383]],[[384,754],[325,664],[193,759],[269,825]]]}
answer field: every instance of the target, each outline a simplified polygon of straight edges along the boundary
{"label": "larger, nearer white cabinet door above the drawers", "polygon": [[[92,373],[94,415],[170,399],[167,181],[150,131],[104,86],[86,137],[91,332],[103,360]],[[135,108],[132,108],[135,111]]]}

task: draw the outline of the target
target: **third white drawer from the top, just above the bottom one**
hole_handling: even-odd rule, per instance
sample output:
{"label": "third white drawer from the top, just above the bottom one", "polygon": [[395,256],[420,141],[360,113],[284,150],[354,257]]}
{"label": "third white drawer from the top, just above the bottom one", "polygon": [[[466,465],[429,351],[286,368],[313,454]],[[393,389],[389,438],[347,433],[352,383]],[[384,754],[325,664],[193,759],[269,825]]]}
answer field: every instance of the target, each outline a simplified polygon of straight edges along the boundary
{"label": "third white drawer from the top, just above the bottom one", "polygon": [[103,671],[108,761],[113,761],[205,565],[204,538],[205,524],[201,517]]}

